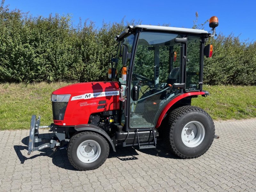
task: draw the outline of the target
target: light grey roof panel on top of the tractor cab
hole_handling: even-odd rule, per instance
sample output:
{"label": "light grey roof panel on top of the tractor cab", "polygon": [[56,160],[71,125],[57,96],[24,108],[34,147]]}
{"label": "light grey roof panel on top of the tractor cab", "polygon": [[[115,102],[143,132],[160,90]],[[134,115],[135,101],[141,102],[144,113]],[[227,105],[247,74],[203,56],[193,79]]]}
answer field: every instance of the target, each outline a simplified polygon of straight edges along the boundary
{"label": "light grey roof panel on top of the tractor cab", "polygon": [[169,32],[181,32],[181,33],[194,33],[194,34],[209,34],[208,31],[202,29],[190,29],[190,28],[178,28],[178,27],[164,27],[155,25],[130,25],[129,28],[143,28],[148,30],[169,31]]}

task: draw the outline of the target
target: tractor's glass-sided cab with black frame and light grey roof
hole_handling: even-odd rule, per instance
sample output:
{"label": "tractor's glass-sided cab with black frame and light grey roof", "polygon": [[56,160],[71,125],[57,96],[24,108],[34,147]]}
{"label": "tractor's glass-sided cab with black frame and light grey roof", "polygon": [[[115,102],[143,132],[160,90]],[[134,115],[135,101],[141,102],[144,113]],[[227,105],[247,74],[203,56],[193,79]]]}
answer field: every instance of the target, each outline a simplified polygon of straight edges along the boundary
{"label": "tractor's glass-sided cab with black frame and light grey roof", "polygon": [[204,45],[210,36],[199,29],[135,25],[116,37],[119,46],[110,71],[121,84],[121,123],[127,131],[158,127],[163,109],[182,94],[192,93],[180,100],[183,105],[205,95]]}

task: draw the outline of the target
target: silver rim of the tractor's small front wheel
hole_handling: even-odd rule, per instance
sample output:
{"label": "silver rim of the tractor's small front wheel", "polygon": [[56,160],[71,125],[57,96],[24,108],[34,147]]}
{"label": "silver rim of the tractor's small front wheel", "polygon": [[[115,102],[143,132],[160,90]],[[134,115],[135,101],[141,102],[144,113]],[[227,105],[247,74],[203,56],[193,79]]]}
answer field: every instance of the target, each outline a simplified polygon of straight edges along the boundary
{"label": "silver rim of the tractor's small front wheel", "polygon": [[100,156],[100,152],[100,145],[94,140],[83,141],[76,150],[78,159],[84,163],[96,161]]}

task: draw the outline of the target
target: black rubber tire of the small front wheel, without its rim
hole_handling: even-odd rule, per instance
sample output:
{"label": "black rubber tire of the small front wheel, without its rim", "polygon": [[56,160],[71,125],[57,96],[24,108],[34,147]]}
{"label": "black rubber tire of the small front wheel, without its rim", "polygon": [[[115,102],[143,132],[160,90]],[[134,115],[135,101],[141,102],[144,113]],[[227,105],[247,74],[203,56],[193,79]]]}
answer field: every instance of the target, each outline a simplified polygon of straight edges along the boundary
{"label": "black rubber tire of the small front wheel, without its rim", "polygon": [[[100,146],[100,156],[92,163],[85,163],[77,156],[77,148],[86,140],[96,141]],[[68,142],[68,160],[79,171],[87,171],[99,168],[108,158],[109,145],[104,137],[96,132],[78,132]]]}

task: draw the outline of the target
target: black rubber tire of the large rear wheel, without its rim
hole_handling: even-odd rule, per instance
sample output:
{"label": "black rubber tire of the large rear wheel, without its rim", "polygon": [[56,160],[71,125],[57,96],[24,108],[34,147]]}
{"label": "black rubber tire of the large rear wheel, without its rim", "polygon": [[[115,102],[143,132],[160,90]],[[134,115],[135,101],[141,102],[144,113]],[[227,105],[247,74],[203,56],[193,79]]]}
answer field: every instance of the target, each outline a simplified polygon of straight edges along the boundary
{"label": "black rubber tire of the large rear wheel, without its rim", "polygon": [[[165,141],[173,154],[183,159],[191,159],[203,155],[210,148],[215,135],[215,126],[212,118],[203,109],[188,105],[176,108],[168,115]],[[205,130],[204,139],[196,147],[186,146],[181,138],[184,126],[192,121],[200,122]]]}

